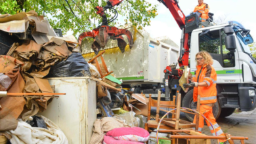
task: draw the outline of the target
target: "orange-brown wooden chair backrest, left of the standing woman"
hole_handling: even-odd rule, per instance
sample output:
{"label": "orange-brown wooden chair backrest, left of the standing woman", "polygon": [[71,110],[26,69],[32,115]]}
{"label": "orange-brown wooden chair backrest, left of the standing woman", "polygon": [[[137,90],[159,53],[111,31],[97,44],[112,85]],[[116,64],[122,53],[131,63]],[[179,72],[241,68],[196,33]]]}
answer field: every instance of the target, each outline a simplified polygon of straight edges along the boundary
{"label": "orange-brown wooden chair backrest, left of the standing woman", "polygon": [[[175,108],[174,107],[174,105],[175,105],[175,97],[176,96],[173,96],[173,101],[160,101],[160,107],[174,109]],[[158,100],[152,99],[151,94],[149,94],[149,99],[148,99],[148,120],[150,120],[151,107],[158,107]],[[158,111],[157,111],[156,115],[158,115]],[[156,120],[156,121],[158,121],[158,120]]]}

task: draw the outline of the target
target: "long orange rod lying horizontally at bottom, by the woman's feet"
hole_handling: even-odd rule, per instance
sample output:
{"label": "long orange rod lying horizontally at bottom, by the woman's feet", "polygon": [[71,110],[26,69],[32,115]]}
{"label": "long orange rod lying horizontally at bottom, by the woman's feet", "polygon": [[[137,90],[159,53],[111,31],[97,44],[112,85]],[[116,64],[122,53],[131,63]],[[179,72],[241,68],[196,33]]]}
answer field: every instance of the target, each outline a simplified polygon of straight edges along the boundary
{"label": "long orange rod lying horizontally at bottom, by the woman's feet", "polygon": [[[225,136],[209,136],[209,135],[171,135],[175,139],[226,139]],[[231,139],[248,140],[248,137],[230,137]]]}

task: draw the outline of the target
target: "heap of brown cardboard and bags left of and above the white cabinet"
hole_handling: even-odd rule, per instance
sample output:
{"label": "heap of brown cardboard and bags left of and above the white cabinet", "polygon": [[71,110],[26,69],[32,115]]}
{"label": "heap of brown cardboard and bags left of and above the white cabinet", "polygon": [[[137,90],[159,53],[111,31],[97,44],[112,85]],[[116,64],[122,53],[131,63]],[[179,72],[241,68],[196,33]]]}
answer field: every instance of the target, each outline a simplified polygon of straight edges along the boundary
{"label": "heap of brown cardboard and bags left of and above the white cabinet", "polygon": [[[14,135],[20,134],[18,128],[28,128],[29,124],[26,124],[26,121],[39,111],[47,109],[47,105],[53,99],[51,95],[7,95],[54,93],[54,88],[47,79],[43,79],[45,77],[91,77],[89,65],[79,53],[77,39],[74,36],[58,37],[47,18],[38,16],[34,10],[14,15],[0,15],[0,136],[15,139]],[[5,92],[7,94],[3,94]],[[53,126],[53,122],[47,118],[43,120],[49,122],[47,127]],[[61,130],[57,132],[59,129],[53,127],[49,128],[48,133],[53,137],[50,136],[51,140],[48,139],[48,143],[58,140],[66,143],[65,135],[60,134]],[[45,131],[30,129],[32,133]],[[27,138],[24,136],[18,139],[24,141]],[[24,142],[37,143],[44,141],[42,139],[43,137],[38,136]],[[11,143],[20,141],[16,139]]]}

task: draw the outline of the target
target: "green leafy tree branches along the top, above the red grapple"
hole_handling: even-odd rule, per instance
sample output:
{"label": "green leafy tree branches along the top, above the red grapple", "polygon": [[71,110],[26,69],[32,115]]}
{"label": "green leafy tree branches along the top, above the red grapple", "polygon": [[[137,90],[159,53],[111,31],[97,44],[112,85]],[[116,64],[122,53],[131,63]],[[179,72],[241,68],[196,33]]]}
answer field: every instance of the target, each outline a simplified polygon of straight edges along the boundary
{"label": "green leafy tree branches along the top, above the red grapple", "polygon": [[[101,18],[96,14],[96,6],[104,7],[104,0],[0,0],[0,14],[16,14],[35,10],[39,15],[48,17],[51,26],[62,29],[62,33],[73,30],[74,35],[84,31],[91,31],[97,27],[96,22]],[[125,16],[125,24],[134,26],[150,26],[150,19],[155,18],[156,5],[146,0],[124,0],[114,7],[121,16]],[[111,18],[114,11],[107,10],[107,17]],[[116,25],[117,20],[110,25]]]}

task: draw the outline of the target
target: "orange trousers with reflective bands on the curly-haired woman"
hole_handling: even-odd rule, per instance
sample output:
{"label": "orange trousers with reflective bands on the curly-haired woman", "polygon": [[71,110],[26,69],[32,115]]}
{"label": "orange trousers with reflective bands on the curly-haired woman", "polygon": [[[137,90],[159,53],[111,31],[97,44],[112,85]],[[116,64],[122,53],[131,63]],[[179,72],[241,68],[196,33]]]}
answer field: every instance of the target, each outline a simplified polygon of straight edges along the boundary
{"label": "orange trousers with reflective bands on the curly-haired woman", "polygon": [[[213,127],[215,128],[215,131],[217,133],[217,136],[225,136],[223,133],[223,130],[221,130],[221,127],[217,124],[214,116],[213,116],[213,107],[209,106],[209,105],[205,105],[205,104],[201,104],[200,105],[200,113],[201,115],[203,115],[205,118],[207,118],[209,120],[209,122],[211,122],[211,124],[213,124]],[[204,118],[200,115],[199,117],[199,126],[198,126],[198,132],[202,133],[202,129],[204,126]],[[211,124],[209,122],[206,121],[207,126],[209,127],[209,129],[211,130],[211,134],[213,134],[215,136],[215,132],[213,130],[213,128],[211,127]],[[196,115],[194,117],[194,124],[196,124]],[[219,142],[224,142],[226,141],[226,139],[219,139]]]}

